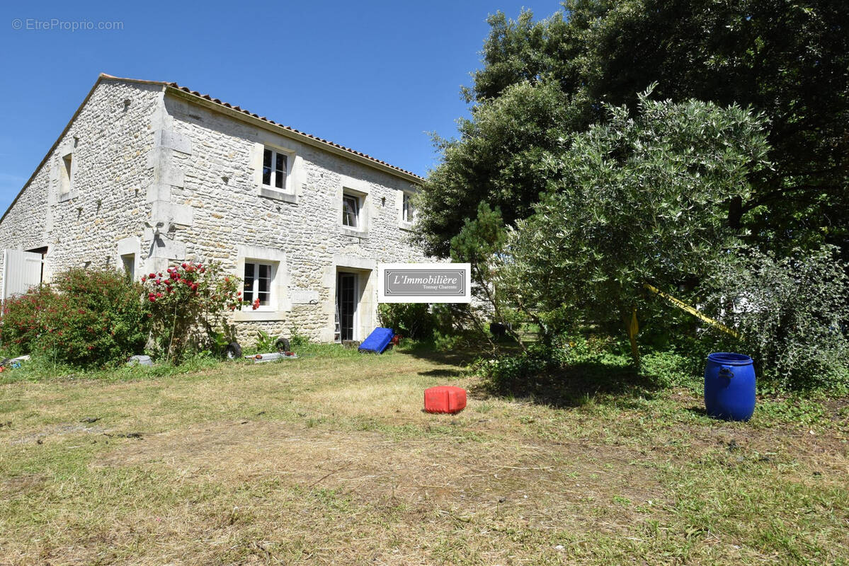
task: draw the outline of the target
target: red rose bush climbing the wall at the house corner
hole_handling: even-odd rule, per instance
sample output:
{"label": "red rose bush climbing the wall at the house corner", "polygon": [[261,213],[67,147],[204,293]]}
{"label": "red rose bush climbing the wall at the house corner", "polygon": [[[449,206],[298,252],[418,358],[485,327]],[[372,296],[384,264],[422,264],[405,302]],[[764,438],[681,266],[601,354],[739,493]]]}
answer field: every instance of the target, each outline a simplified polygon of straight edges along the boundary
{"label": "red rose bush climbing the wall at the house corner", "polygon": [[148,273],[142,283],[143,300],[153,315],[155,348],[171,361],[203,347],[208,333],[223,324],[224,314],[244,304],[241,280],[222,273],[218,264],[184,262],[164,273]]}

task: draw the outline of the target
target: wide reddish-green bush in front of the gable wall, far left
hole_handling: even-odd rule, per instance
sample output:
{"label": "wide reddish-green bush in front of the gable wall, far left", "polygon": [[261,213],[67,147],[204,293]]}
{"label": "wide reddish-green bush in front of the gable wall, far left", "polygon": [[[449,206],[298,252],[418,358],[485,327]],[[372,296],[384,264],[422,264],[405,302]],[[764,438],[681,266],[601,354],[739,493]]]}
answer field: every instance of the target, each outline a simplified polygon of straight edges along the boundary
{"label": "wide reddish-green bush in front of the gable wall, far left", "polygon": [[123,361],[143,349],[149,311],[121,272],[71,269],[6,301],[0,343],[74,366]]}

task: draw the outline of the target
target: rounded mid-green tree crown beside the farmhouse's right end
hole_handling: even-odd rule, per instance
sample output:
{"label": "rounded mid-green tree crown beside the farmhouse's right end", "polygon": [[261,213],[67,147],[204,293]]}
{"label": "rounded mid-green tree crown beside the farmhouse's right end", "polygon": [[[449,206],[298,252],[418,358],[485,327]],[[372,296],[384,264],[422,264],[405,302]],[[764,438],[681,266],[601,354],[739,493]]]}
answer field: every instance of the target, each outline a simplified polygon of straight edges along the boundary
{"label": "rounded mid-green tree crown beside the farmhouse's right end", "polygon": [[576,126],[554,84],[524,82],[472,109],[460,120],[462,142],[440,140],[443,164],[431,171],[419,199],[419,237],[431,253],[447,256],[451,238],[480,203],[503,211],[509,224],[531,213],[553,180],[546,167],[562,153]]}

